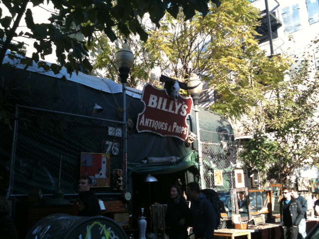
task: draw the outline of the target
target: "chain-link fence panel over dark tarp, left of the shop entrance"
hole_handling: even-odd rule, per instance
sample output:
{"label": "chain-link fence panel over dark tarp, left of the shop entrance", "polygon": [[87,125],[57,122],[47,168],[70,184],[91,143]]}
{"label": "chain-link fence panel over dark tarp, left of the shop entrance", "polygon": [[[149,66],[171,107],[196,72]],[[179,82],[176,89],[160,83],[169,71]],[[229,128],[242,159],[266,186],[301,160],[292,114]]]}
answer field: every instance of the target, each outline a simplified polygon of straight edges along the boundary
{"label": "chain-link fence panel over dark tarp, left of the shop entrance", "polygon": [[[109,133],[110,127],[122,128],[123,124],[34,108],[19,107],[18,113],[16,132],[13,132],[16,138],[12,196],[27,195],[31,188],[40,188],[44,195],[58,190],[65,195],[77,194],[79,152],[111,154],[111,177],[113,172],[118,173],[118,169],[123,168],[122,137]],[[111,181],[110,184],[110,187],[94,188],[94,191],[119,192],[113,187],[116,183]]]}

